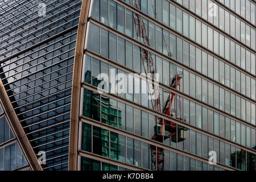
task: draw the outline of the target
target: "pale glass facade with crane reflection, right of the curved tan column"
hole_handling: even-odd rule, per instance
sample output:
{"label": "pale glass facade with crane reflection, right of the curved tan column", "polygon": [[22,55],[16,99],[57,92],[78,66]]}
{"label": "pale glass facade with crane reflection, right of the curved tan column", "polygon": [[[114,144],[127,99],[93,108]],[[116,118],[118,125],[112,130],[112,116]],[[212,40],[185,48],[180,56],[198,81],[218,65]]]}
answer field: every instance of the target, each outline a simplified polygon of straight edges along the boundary
{"label": "pale glass facade with crane reflection, right of the curved tan column", "polygon": [[90,2],[78,169],[255,171],[255,1],[236,3]]}

